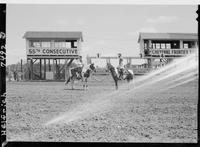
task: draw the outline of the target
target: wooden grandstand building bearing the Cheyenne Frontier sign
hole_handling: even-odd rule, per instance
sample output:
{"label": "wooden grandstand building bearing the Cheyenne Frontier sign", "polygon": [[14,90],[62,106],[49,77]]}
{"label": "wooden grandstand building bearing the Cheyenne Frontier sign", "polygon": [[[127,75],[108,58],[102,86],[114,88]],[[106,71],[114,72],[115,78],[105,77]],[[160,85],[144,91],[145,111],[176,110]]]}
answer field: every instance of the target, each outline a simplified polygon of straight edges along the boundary
{"label": "wooden grandstand building bearing the Cheyenne Frontier sign", "polygon": [[160,58],[170,62],[174,58],[195,53],[198,49],[198,34],[140,33],[138,43],[141,58],[147,59],[148,66],[152,67]]}

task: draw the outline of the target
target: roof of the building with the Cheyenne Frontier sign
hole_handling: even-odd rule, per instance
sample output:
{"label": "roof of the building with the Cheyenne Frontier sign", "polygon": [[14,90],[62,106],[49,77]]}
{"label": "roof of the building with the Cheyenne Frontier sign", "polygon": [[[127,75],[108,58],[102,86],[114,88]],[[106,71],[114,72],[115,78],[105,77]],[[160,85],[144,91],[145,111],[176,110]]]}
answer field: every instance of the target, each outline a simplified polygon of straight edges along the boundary
{"label": "roof of the building with the Cheyenne Frontier sign", "polygon": [[140,33],[138,42],[143,39],[160,39],[160,40],[198,40],[197,33]]}

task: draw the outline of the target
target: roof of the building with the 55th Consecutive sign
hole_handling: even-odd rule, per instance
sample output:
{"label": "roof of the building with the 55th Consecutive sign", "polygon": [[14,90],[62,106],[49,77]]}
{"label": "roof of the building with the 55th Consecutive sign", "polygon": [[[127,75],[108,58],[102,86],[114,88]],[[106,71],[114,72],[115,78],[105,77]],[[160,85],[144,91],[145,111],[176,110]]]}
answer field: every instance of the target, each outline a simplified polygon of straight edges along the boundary
{"label": "roof of the building with the 55th Consecutive sign", "polygon": [[82,32],[44,32],[44,31],[27,31],[23,38],[62,38],[62,39],[81,39]]}

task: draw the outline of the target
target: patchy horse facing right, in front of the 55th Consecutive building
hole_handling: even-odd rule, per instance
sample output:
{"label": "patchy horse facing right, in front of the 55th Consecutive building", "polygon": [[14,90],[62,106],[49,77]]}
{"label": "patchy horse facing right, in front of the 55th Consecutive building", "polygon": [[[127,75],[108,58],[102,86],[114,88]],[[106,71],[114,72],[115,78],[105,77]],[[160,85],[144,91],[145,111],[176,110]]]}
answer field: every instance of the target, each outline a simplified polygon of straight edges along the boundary
{"label": "patchy horse facing right, in front of the 55th Consecutive building", "polygon": [[74,89],[74,81],[75,80],[82,80],[84,82],[83,88],[88,88],[88,78],[90,77],[92,72],[96,72],[96,68],[94,66],[94,63],[89,65],[89,68],[86,69],[85,72],[83,72],[83,68],[73,68],[71,69],[71,76],[65,81],[65,85],[67,85],[69,82],[71,83],[72,89]]}

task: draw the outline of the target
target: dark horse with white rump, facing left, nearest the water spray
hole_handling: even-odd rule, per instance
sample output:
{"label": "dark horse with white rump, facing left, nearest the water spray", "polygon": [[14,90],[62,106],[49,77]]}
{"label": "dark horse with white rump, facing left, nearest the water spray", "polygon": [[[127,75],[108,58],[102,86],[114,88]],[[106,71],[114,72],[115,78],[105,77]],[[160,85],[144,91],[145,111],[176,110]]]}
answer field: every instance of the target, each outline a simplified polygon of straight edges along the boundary
{"label": "dark horse with white rump, facing left, nearest the water spray", "polygon": [[[113,80],[115,81],[115,88],[118,89],[118,80],[127,80],[129,83],[131,80],[133,80],[134,73],[131,70],[124,69],[123,73],[117,73],[118,70],[115,70],[115,67],[112,66],[110,63],[107,63],[107,68],[111,73],[111,76]],[[119,75],[119,76],[118,76]]]}

